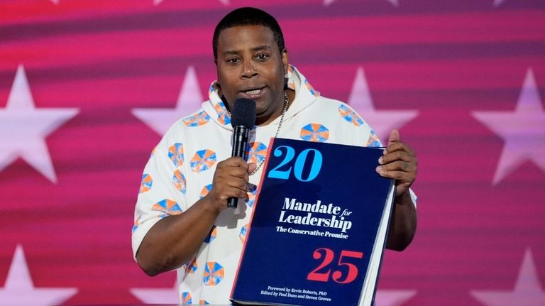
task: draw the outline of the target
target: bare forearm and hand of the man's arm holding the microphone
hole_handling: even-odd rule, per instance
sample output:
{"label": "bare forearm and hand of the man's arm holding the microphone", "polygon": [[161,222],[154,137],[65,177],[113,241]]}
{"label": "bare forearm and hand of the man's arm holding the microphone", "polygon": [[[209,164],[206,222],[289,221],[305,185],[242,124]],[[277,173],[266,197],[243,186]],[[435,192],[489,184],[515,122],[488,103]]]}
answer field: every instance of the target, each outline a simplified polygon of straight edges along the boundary
{"label": "bare forearm and hand of the man's arm holding the microphone", "polygon": [[218,163],[208,195],[182,214],[161,219],[145,235],[136,253],[143,271],[157,275],[191,260],[219,212],[227,208],[227,199],[248,198],[248,177],[255,168],[255,163],[248,164],[238,157]]}

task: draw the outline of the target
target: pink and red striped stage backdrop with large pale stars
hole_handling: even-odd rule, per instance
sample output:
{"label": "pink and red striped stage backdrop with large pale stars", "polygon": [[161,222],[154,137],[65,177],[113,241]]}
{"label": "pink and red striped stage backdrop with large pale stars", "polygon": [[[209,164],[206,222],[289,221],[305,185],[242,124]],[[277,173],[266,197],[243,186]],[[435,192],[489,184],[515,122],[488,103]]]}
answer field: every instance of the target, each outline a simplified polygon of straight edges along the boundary
{"label": "pink and red striped stage backdrop with large pale stars", "polygon": [[177,301],[132,258],[142,170],[250,5],[315,89],[417,151],[417,235],[378,305],[545,305],[543,0],[1,1],[0,305]]}

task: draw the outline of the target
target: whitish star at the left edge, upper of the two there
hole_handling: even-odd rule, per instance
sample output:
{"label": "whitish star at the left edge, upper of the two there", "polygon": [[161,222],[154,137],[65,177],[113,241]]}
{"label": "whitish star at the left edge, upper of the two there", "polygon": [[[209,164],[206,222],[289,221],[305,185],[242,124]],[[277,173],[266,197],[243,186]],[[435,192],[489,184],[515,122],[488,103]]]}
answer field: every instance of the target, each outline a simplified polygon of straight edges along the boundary
{"label": "whitish star at the left edge, upper of the two there", "polygon": [[78,109],[36,109],[25,69],[19,65],[6,107],[0,109],[0,171],[21,157],[56,183],[45,137],[78,112]]}

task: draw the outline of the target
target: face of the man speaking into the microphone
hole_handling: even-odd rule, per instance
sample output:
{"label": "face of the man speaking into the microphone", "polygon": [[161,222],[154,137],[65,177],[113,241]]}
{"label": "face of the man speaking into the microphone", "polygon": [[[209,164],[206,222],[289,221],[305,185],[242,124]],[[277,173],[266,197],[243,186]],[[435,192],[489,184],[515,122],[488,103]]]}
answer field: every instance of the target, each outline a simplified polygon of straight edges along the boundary
{"label": "face of the man speaking into the microphone", "polygon": [[238,98],[255,101],[255,124],[268,124],[284,108],[287,51],[278,50],[265,26],[236,26],[221,31],[216,69],[221,94],[233,109]]}

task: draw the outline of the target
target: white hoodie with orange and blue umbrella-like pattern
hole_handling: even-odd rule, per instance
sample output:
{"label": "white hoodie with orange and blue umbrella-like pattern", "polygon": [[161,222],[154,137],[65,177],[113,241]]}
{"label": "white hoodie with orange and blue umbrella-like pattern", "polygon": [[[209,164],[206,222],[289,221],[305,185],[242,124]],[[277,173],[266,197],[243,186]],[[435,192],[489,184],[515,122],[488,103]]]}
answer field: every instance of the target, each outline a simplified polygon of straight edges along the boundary
{"label": "white hoodie with orange and blue umbrella-like pattern", "polygon": [[[380,146],[375,132],[350,106],[321,97],[293,66],[287,87],[295,99],[287,109],[280,138],[325,141],[353,146]],[[280,116],[250,133],[248,161],[259,164],[267,158],[270,138]],[[194,114],[175,122],[155,147],[145,166],[135,210],[133,255],[145,234],[160,219],[185,210],[207,195],[219,161],[231,157],[231,118],[221,101],[216,82],[209,100]],[[250,176],[258,185],[261,172]],[[192,261],[177,269],[182,304],[228,304],[236,268],[248,231],[256,190],[250,200],[238,200],[237,209],[225,209]]]}

